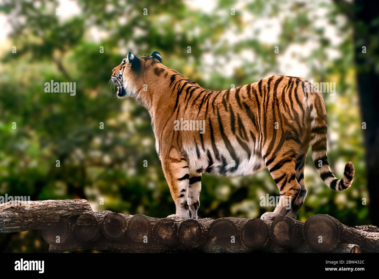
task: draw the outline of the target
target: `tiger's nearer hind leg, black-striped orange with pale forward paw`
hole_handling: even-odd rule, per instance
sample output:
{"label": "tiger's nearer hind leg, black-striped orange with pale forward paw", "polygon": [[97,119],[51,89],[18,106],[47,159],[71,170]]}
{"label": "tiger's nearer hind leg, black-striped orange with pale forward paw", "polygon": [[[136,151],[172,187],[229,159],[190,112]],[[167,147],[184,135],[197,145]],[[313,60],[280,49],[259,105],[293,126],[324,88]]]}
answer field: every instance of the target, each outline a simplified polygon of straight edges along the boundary
{"label": "tiger's nearer hind leg, black-striped orange with pale forward paw", "polygon": [[266,212],[263,220],[273,220],[277,216],[285,216],[293,208],[300,194],[301,186],[296,180],[296,151],[291,149],[293,144],[283,143],[278,152],[266,156],[266,166],[279,188],[280,199],[274,212]]}

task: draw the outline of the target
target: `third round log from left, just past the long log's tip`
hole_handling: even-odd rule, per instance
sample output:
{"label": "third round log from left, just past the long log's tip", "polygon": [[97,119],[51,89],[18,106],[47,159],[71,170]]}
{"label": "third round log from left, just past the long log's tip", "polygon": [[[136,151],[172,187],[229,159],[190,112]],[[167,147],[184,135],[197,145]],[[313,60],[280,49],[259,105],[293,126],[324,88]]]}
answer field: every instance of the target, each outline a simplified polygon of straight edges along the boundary
{"label": "third round log from left, just past the long log's tip", "polygon": [[120,213],[109,213],[104,216],[100,227],[106,238],[110,240],[119,240],[125,236],[128,221],[132,215]]}

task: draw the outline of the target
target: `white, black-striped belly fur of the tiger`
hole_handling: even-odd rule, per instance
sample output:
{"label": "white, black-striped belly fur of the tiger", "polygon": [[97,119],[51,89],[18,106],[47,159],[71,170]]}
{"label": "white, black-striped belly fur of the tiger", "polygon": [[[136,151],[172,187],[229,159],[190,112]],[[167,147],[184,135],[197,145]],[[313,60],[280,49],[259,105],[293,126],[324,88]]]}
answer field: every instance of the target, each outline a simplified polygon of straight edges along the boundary
{"label": "white, black-striped belly fur of the tiger", "polygon": [[[198,150],[193,146],[185,148],[185,152],[189,159],[189,172],[194,173],[197,170],[202,169],[202,172],[236,177],[250,175],[265,167],[265,161],[260,153],[256,151],[254,152],[255,149],[253,143],[248,145],[251,152],[250,156],[238,142],[232,142],[232,147],[235,152],[234,158],[225,147],[224,142],[216,143],[218,159],[216,158],[217,151],[215,152],[211,145],[205,145],[205,151],[201,146],[198,147]],[[211,165],[209,164],[210,159],[207,154],[208,150],[212,160]]]}

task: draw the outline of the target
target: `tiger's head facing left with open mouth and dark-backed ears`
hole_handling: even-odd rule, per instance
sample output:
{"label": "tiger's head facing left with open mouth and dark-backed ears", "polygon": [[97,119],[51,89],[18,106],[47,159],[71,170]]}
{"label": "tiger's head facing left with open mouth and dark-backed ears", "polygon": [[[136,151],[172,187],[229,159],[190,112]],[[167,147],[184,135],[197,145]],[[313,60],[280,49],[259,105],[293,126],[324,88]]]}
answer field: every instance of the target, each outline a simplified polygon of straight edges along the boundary
{"label": "tiger's head facing left with open mouth and dark-backed ears", "polygon": [[155,63],[162,63],[161,54],[157,51],[150,55],[129,52],[121,64],[112,70],[111,80],[117,86],[117,98],[134,97],[143,87],[141,75]]}

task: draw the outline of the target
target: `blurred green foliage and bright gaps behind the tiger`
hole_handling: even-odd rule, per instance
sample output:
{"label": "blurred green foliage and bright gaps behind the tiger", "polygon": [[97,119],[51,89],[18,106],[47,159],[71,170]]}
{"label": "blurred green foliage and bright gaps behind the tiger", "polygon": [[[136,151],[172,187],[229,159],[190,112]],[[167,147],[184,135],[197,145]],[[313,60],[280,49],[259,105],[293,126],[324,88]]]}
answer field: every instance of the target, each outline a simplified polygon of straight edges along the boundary
{"label": "blurred green foliage and bright gaps behind the tiger", "polygon": [[[335,95],[323,94],[329,163],[341,178],[352,161],[354,183],[331,191],[309,153],[298,219],[324,213],[346,225],[379,224],[370,207],[379,204],[379,19],[365,1],[0,3],[0,195],[87,199],[94,211],[159,218],[174,213],[147,111],[134,99],[114,99],[108,84],[128,51],[156,50],[164,65],[212,90],[272,74],[335,82]],[[50,80],[76,82],[76,95],[45,93]],[[260,206],[266,194],[279,195],[268,170],[204,174],[199,216],[259,218],[274,209]],[[47,250],[39,230],[0,234],[1,252]]]}

